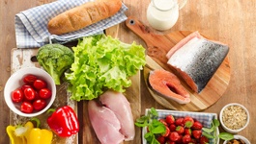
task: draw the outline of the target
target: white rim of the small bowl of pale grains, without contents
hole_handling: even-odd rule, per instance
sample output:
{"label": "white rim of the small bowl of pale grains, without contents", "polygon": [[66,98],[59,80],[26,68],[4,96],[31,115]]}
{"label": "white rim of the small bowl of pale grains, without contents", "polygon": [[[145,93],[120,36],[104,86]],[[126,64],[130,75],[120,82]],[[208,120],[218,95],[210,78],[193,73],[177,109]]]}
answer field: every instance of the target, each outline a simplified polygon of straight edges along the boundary
{"label": "white rim of the small bowl of pale grains, without contents", "polygon": [[[246,118],[246,122],[244,124],[244,126],[240,129],[231,129],[231,128],[228,128],[226,125],[224,125],[224,122],[223,122],[223,111],[224,109],[226,108],[229,108],[231,106],[238,106],[238,107],[241,107],[242,109],[244,109],[246,115],[247,115],[247,118]],[[236,112],[237,113],[237,112]],[[249,115],[249,112],[248,110],[243,107],[241,104],[238,104],[238,103],[231,103],[231,104],[228,104],[226,106],[224,106],[221,110],[220,110],[220,113],[219,113],[219,121],[220,121],[220,124],[222,126],[222,128],[226,131],[226,132],[230,132],[230,133],[238,133],[238,132],[241,132],[244,128],[247,127],[247,125],[249,124],[249,119],[250,119],[250,115]]]}

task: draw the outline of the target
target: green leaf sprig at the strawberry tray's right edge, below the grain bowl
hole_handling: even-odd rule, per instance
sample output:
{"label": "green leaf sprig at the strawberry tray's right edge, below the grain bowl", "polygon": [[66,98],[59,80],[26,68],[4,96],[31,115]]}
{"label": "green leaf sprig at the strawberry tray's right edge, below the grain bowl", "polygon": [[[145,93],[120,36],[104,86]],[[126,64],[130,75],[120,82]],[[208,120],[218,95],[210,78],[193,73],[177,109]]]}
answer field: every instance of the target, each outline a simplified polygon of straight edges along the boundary
{"label": "green leaf sprig at the strawberry tray's right edge, below the grain bowl", "polygon": [[[223,140],[231,140],[234,138],[234,135],[229,132],[220,132],[216,135],[216,128],[219,126],[219,121],[217,119],[213,119],[212,127],[211,128],[203,128],[203,135],[208,138],[221,138]],[[212,134],[213,132],[213,134]]]}

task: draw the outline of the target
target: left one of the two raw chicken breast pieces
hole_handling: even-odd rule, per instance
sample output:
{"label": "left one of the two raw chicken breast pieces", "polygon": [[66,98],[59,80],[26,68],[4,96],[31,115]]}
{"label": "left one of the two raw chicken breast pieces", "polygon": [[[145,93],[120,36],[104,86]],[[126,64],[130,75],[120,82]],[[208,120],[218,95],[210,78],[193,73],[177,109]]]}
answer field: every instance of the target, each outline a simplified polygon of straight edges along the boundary
{"label": "left one of the two raw chicken breast pieces", "polygon": [[124,141],[125,136],[120,132],[121,124],[112,110],[91,100],[88,103],[88,112],[101,144],[120,144]]}

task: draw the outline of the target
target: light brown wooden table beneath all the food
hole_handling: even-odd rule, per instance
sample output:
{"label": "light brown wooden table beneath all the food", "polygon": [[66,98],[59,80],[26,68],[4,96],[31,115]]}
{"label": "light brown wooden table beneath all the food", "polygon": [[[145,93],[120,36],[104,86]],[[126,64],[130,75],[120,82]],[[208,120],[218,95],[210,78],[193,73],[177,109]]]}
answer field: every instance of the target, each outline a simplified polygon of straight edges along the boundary
{"label": "light brown wooden table beneath all the food", "polygon": [[[4,101],[4,86],[10,77],[11,50],[15,47],[14,14],[29,8],[43,5],[53,0],[27,1],[0,1],[0,143],[8,143],[9,137],[5,128],[9,125],[10,110]],[[133,15],[148,25],[146,10],[150,0],[123,0],[128,6],[127,15]],[[251,143],[256,143],[256,0],[189,0],[176,25],[169,31],[199,31],[215,40],[227,43],[230,46],[229,60],[231,67],[230,84],[223,97],[206,112],[219,113],[220,109],[232,102],[241,103],[248,108],[251,118],[249,126],[240,132]],[[159,33],[159,32],[156,32]],[[159,33],[160,34],[160,33]],[[122,23],[116,34],[124,42],[136,41],[145,46],[145,43]],[[145,108],[162,108],[156,104],[141,79],[141,110]],[[222,131],[222,130],[221,130]],[[79,133],[79,138],[83,133]]]}

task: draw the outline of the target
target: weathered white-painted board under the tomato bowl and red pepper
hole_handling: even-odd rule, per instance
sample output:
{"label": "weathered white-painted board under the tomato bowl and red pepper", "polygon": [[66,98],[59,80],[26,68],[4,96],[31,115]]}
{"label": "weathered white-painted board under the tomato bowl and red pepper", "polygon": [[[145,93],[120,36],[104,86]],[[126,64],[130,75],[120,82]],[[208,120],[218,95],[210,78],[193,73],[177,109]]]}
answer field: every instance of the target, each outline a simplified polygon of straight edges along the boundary
{"label": "weathered white-painted board under the tomato bowl and red pepper", "polygon": [[[20,68],[24,67],[41,67],[40,64],[36,60],[36,56],[38,53],[38,48],[34,49],[17,49],[14,48],[11,54],[11,74],[17,71]],[[70,94],[67,92],[67,83],[63,83],[60,85],[56,85],[56,99],[51,108],[60,108],[63,106],[71,106],[74,111],[77,112],[77,103],[70,100]],[[43,114],[37,116],[42,123],[41,128],[48,129],[48,125],[46,123],[46,119],[49,114],[44,112]],[[24,124],[29,121],[30,118],[22,117],[15,114],[13,111],[10,111],[10,124],[11,125],[18,125]],[[78,134],[73,134],[71,137],[62,138],[57,135],[53,135],[52,139],[53,144],[63,143],[63,144],[77,144],[78,143]]]}

